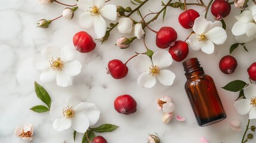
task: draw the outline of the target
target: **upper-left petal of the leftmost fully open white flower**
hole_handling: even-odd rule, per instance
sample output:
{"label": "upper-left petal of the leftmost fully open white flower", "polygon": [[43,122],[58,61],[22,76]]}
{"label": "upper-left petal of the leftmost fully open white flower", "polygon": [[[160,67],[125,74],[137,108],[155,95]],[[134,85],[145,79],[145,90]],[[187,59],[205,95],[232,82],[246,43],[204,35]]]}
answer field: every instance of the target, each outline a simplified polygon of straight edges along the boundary
{"label": "upper-left petal of the leftmost fully open white flower", "polygon": [[41,54],[47,58],[47,60],[51,60],[51,58],[59,57],[60,56],[60,49],[55,48],[53,46],[44,48],[41,50]]}

